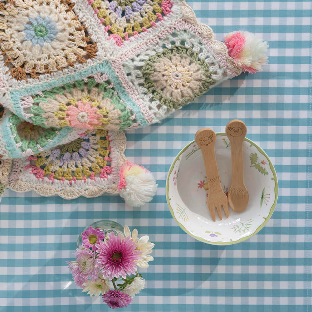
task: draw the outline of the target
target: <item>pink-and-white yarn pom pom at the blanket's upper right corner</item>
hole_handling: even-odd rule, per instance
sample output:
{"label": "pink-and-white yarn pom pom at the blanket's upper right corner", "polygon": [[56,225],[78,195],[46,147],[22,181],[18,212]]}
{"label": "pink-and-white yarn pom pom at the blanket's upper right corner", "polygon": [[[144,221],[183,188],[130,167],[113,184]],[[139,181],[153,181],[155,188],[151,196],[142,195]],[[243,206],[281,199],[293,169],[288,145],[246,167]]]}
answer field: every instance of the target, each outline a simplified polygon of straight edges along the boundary
{"label": "pink-and-white yarn pom pom at the blanket's upper right corner", "polygon": [[231,32],[224,37],[229,56],[242,70],[254,74],[267,64],[266,50],[268,43],[255,37],[250,32]]}

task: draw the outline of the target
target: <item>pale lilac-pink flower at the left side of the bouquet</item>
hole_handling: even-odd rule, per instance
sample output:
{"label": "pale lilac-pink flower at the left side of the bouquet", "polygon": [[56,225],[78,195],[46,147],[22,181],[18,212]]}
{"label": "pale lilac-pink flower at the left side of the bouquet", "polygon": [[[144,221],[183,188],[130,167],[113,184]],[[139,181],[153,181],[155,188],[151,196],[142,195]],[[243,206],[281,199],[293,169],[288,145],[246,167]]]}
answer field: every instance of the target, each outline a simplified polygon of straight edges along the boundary
{"label": "pale lilac-pink flower at the left side of the bouquet", "polygon": [[82,287],[82,284],[88,281],[89,276],[95,282],[101,273],[95,266],[95,253],[90,249],[86,250],[81,247],[76,249],[76,261],[66,261],[78,287]]}

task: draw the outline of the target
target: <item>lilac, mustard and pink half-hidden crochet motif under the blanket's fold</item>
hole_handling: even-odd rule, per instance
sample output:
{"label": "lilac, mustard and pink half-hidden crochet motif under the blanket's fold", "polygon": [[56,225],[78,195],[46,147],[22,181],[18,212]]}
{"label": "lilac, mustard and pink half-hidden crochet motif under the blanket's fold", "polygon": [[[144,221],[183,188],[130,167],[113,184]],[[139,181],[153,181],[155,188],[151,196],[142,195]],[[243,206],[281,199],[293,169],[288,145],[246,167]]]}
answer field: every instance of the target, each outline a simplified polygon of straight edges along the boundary
{"label": "lilac, mustard and pink half-hidden crochet motif under the blanket's fold", "polygon": [[36,178],[47,177],[65,181],[107,179],[112,172],[108,165],[111,161],[110,138],[107,131],[98,130],[91,134],[82,134],[80,139],[58,146],[50,151],[30,156],[31,161],[24,170],[31,169]]}

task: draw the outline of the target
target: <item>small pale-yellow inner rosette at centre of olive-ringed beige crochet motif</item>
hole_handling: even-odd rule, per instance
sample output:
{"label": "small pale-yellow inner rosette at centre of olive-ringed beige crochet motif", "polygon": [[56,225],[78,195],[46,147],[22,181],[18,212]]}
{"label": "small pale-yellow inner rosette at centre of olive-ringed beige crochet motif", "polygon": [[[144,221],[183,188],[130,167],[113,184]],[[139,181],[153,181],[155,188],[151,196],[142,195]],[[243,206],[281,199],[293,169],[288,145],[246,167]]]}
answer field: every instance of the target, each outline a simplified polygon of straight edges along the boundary
{"label": "small pale-yellow inner rosette at centre of olive-ringed beige crochet motif", "polygon": [[188,82],[193,80],[193,71],[190,71],[189,66],[183,67],[181,63],[177,65],[165,66],[162,71],[163,79],[168,81],[168,84],[174,89],[183,89],[183,86],[188,85]]}

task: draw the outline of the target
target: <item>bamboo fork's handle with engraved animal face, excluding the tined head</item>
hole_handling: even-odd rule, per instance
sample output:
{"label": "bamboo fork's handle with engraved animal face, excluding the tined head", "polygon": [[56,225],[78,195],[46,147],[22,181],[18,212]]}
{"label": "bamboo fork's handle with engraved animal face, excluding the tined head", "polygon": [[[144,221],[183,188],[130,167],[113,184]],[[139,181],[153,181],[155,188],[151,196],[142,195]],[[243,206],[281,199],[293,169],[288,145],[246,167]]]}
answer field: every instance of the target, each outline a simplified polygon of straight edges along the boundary
{"label": "bamboo fork's handle with engraved animal face, excluding the tined head", "polygon": [[196,132],[195,141],[202,151],[209,190],[223,192],[214,152],[216,134],[210,128],[203,128]]}

